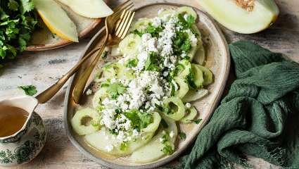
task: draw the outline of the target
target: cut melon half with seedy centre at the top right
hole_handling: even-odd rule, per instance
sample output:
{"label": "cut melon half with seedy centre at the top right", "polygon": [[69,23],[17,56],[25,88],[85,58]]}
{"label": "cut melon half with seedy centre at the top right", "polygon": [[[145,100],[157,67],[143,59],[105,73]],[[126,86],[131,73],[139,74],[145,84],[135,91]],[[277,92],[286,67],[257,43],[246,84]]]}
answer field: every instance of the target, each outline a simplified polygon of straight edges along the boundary
{"label": "cut melon half with seedy centre at the top right", "polygon": [[198,0],[203,9],[229,30],[252,34],[267,29],[279,15],[273,0]]}

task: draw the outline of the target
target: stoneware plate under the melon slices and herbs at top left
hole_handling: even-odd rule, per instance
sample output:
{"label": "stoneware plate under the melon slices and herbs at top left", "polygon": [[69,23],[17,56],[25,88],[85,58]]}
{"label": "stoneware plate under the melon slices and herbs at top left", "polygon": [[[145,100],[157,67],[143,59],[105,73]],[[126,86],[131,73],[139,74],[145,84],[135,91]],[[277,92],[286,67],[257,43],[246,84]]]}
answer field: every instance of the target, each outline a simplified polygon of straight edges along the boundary
{"label": "stoneware plate under the melon slices and herbs at top left", "polygon": [[[85,18],[73,12],[68,6],[65,6],[61,3],[59,4],[63,8],[63,10],[68,14],[72,22],[74,22],[77,26],[79,39],[82,39],[83,37],[89,35],[89,32],[94,30],[101,23],[101,18]],[[40,20],[40,23],[42,23],[41,29],[36,30],[34,32],[26,51],[45,51],[49,49],[60,48],[62,46],[73,43],[68,40],[61,39],[61,37],[53,35],[42,20]]]}

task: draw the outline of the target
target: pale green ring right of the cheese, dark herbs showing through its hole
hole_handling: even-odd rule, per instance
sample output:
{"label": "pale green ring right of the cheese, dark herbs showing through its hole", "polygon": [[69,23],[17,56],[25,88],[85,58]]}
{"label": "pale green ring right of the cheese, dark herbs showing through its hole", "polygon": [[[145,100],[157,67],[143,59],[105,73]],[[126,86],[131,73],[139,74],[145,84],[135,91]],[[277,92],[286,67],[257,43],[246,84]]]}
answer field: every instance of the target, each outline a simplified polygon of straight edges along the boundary
{"label": "pale green ring right of the cheese, dark herbs showing through its hole", "polygon": [[178,97],[170,97],[163,100],[163,104],[166,108],[169,108],[169,113],[164,113],[168,118],[173,120],[180,120],[185,116],[185,106],[183,101]]}

